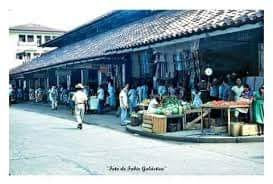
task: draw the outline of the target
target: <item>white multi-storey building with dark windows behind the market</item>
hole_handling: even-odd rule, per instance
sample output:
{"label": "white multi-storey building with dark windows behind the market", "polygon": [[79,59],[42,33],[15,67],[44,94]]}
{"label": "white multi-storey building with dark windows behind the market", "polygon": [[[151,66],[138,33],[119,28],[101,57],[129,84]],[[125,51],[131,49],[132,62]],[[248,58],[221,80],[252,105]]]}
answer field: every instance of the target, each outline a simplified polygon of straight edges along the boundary
{"label": "white multi-storey building with dark windows behind the market", "polygon": [[39,47],[39,45],[55,39],[65,32],[38,24],[25,24],[9,28],[10,50],[12,61],[9,68],[24,64],[34,57],[54,48]]}

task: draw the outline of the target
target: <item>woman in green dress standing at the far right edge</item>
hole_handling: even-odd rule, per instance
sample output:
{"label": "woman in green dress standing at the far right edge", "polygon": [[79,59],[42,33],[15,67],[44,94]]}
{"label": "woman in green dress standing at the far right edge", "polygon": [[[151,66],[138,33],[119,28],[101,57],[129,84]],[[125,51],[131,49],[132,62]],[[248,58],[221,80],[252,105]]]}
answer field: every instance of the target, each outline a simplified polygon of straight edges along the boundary
{"label": "woman in green dress standing at the far right edge", "polygon": [[254,93],[253,120],[258,124],[259,135],[264,134],[264,86]]}

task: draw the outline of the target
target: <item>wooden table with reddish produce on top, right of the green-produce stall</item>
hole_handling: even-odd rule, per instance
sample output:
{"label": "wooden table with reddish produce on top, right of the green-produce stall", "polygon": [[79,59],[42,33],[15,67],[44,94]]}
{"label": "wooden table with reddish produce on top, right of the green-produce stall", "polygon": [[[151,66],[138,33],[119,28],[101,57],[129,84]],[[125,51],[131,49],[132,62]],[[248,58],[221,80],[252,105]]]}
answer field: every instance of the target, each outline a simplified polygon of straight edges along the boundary
{"label": "wooden table with reddish produce on top, right of the green-produce stall", "polygon": [[[227,116],[228,116],[228,135],[230,135],[230,111],[231,109],[236,109],[236,108],[248,108],[251,112],[251,104],[241,104],[241,105],[224,105],[224,106],[219,106],[219,105],[202,105],[201,106],[201,131],[203,132],[203,112],[204,110],[208,110],[210,113],[212,109],[222,109],[222,110],[227,110]],[[250,116],[251,117],[251,116]],[[210,116],[209,116],[209,122],[210,122]]]}

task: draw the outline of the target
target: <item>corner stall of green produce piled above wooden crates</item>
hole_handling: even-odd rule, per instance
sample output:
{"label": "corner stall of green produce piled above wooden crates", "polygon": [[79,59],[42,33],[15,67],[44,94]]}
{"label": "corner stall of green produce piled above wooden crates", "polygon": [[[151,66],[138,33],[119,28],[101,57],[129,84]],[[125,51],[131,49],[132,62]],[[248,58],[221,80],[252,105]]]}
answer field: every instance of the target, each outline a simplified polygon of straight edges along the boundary
{"label": "corner stall of green produce piled above wooden crates", "polygon": [[[146,110],[150,100],[145,100],[139,104],[141,111],[131,115],[131,125],[139,126],[143,130],[153,133],[166,133],[181,131],[186,128],[186,124],[195,124],[201,120],[201,109],[194,108],[190,103],[179,100],[175,96],[163,97],[155,112]],[[187,116],[197,114],[197,117],[187,123]],[[203,114],[204,116],[205,114]]]}

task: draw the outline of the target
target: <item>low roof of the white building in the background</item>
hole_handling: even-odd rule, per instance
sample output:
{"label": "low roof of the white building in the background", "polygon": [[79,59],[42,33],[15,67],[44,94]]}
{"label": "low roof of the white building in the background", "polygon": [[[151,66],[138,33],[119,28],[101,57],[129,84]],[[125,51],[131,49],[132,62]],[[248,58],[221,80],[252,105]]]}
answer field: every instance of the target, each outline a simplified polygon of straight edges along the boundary
{"label": "low roof of the white building in the background", "polygon": [[65,32],[63,30],[46,27],[40,24],[24,24],[24,25],[13,26],[13,27],[10,27],[9,29],[16,30],[16,31]]}

